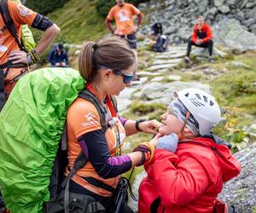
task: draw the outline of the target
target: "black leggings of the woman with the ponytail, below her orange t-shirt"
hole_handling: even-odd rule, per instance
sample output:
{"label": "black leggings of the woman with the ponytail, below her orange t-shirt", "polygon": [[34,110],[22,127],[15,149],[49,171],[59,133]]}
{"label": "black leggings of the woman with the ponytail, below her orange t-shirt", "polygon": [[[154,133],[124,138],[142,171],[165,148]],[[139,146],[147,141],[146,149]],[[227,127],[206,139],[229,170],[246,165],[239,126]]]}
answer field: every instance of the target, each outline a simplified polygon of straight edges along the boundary
{"label": "black leggings of the woman with the ponytail, below her orange t-shirt", "polygon": [[[103,197],[101,195],[98,195],[96,193],[90,192],[88,189],[81,187],[78,183],[70,180],[69,190],[72,193],[82,193],[87,194],[90,197],[94,198],[96,201],[100,202],[106,210],[110,210],[110,207],[113,206],[112,204],[112,197]],[[121,213],[134,213],[133,210],[127,205],[124,204],[123,209],[120,211]]]}

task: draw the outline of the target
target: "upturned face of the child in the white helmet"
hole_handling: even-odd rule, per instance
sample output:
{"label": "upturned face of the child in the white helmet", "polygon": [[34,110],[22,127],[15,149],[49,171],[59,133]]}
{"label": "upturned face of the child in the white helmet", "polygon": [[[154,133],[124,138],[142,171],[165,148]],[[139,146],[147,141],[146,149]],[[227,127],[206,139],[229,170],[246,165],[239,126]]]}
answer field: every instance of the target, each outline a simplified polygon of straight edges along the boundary
{"label": "upturned face of the child in the white helmet", "polygon": [[171,133],[177,134],[183,128],[183,123],[176,118],[172,109],[168,109],[160,118],[162,125],[159,128],[159,132],[161,135],[170,135]]}

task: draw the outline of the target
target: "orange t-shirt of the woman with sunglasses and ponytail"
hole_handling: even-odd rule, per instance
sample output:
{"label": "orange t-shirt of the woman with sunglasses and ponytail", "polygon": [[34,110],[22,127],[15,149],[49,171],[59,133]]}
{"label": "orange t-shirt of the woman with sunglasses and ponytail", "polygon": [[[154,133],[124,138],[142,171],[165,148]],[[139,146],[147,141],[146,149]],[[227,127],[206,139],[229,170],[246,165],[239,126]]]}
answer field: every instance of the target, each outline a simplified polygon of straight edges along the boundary
{"label": "orange t-shirt of the woman with sunglasses and ponytail", "polygon": [[[116,119],[116,122],[119,128],[120,141],[122,142],[125,139],[125,129],[118,118]],[[102,126],[100,124],[100,116],[96,110],[96,107],[90,101],[85,101],[82,98],[78,98],[76,101],[74,101],[72,106],[69,107],[67,110],[67,155],[69,168],[73,168],[75,159],[82,151],[78,141],[79,136],[100,129],[102,129]],[[116,127],[108,128],[105,133],[111,156],[114,156],[116,151],[116,134]],[[75,173],[72,178],[73,181],[77,182],[80,186],[90,190],[91,192],[100,194],[101,196],[105,197],[111,196],[112,193],[102,188],[90,185],[80,176],[94,177],[97,180],[102,181],[111,187],[116,187],[119,181],[119,176],[108,179],[103,179],[102,177],[98,176],[96,170],[93,168],[90,162],[87,162],[87,164],[85,164],[83,168]]]}

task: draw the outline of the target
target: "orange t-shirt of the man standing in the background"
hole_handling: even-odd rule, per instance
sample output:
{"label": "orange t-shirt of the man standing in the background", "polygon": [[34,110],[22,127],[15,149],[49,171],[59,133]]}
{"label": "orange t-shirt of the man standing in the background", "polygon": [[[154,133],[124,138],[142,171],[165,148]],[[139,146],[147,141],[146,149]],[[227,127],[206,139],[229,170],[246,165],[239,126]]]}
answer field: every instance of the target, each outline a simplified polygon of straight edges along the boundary
{"label": "orange t-shirt of the man standing in the background", "polygon": [[121,35],[128,35],[132,33],[132,16],[134,14],[138,15],[142,13],[131,3],[125,3],[123,7],[119,7],[119,5],[113,6],[108,13],[107,19],[116,21],[117,30]]}

